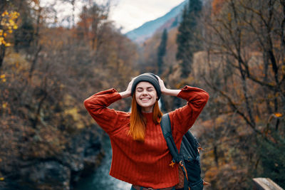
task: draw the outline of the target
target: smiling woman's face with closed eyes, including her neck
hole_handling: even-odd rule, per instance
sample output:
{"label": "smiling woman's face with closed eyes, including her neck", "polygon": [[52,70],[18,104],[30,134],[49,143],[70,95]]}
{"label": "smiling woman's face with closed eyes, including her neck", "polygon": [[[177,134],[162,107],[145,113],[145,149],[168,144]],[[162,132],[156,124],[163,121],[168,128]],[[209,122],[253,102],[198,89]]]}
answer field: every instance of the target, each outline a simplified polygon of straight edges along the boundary
{"label": "smiling woman's face with closed eyes, including her neck", "polygon": [[157,100],[155,87],[148,82],[140,82],[135,88],[135,100],[142,107],[142,112],[152,112]]}

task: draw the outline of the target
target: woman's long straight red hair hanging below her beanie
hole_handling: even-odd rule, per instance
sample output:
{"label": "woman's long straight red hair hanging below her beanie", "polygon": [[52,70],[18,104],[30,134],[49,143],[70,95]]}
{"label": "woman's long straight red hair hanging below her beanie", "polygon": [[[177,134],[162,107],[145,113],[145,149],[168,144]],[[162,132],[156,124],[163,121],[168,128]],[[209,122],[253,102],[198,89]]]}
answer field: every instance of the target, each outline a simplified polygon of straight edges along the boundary
{"label": "woman's long straight red hair hanging below her beanie", "polygon": [[[155,124],[159,124],[162,117],[162,112],[158,106],[157,100],[152,110],[152,120]],[[135,100],[135,93],[132,100],[132,110],[130,112],[130,130],[128,134],[133,137],[134,140],[144,141],[145,140],[145,116],[142,115],[142,109]]]}

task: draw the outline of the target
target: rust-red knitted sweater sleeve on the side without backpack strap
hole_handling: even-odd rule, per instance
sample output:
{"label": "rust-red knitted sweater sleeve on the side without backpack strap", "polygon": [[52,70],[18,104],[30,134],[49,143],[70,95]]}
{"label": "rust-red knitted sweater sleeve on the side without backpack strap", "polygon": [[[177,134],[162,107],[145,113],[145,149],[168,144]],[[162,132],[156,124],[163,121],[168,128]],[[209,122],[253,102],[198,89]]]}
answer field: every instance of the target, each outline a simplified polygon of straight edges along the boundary
{"label": "rust-red knitted sweater sleeve on the side without backpack strap", "polygon": [[[93,119],[110,136],[118,132],[128,113],[109,109],[108,106],[122,97],[115,89],[96,93],[84,101],[84,105]],[[125,117],[124,117],[125,116]]]}

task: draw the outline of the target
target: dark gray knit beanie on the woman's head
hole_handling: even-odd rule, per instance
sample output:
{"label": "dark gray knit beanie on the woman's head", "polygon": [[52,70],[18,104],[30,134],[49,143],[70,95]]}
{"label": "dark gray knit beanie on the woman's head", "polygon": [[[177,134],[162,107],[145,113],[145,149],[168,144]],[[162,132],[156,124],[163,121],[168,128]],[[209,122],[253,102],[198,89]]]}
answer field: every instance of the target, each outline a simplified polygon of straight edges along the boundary
{"label": "dark gray knit beanie on the woman's head", "polygon": [[158,82],[158,78],[153,73],[143,73],[141,75],[138,75],[137,78],[135,78],[132,85],[132,93],[131,93],[132,96],[133,93],[135,93],[135,87],[138,85],[138,83],[142,81],[151,83],[155,87],[158,99],[160,99],[161,96],[160,83]]}

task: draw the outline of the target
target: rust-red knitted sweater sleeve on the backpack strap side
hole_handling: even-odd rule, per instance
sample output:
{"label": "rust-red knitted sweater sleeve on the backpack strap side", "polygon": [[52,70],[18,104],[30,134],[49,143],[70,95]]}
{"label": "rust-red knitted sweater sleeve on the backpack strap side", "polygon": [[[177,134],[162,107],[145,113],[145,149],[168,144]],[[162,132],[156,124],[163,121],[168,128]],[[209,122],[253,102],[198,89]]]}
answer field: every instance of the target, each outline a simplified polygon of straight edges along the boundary
{"label": "rust-red knitted sweater sleeve on the backpack strap side", "polygon": [[209,99],[209,94],[200,88],[185,86],[177,97],[187,100],[187,105],[170,112],[172,133],[174,136],[178,135],[177,138],[180,139],[192,127],[202,112]]}

